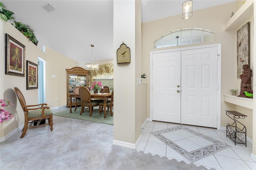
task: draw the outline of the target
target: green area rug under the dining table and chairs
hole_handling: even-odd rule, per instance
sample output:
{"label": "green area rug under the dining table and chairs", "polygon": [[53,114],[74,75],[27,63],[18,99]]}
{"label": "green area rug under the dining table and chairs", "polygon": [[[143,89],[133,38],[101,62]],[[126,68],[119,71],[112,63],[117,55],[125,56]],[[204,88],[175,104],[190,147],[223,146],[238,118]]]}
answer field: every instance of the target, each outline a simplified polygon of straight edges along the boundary
{"label": "green area rug under the dining table and chairs", "polygon": [[[79,119],[84,121],[90,121],[90,122],[97,122],[97,123],[104,123],[108,125],[114,125],[113,117],[110,115],[110,111],[106,111],[106,118],[104,118],[104,112],[99,113],[99,110],[92,111],[92,117],[89,117],[90,111],[89,109],[84,110],[84,113],[82,115],[80,114],[80,108],[77,108],[74,112],[74,108],[72,108],[72,113],[70,113],[70,109],[67,109],[66,111],[61,111],[57,113],[53,113],[54,116],[60,116],[60,117],[68,117],[72,119]],[[114,115],[114,111],[112,111]]]}

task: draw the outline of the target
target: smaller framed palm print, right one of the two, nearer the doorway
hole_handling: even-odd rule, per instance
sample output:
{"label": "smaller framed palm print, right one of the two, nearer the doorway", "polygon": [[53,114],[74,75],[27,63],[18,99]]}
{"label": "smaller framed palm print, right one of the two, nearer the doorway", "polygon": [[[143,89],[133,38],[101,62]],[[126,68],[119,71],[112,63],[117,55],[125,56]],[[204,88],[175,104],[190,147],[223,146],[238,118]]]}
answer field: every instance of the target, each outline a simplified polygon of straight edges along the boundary
{"label": "smaller framed palm print, right one of the two, nearer the doorway", "polygon": [[27,60],[27,90],[38,89],[38,65]]}

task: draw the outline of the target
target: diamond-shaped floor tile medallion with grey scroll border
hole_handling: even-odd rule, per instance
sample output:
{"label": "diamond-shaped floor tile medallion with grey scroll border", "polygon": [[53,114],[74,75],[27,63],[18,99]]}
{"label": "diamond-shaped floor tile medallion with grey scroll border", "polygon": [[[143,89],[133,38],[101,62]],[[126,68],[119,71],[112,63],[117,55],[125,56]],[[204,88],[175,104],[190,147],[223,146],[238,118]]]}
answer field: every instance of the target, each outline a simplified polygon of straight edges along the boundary
{"label": "diamond-shaped floor tile medallion with grey scroll border", "polygon": [[[182,148],[181,146],[176,144],[177,143],[176,141],[173,142],[166,137],[166,136],[168,136],[167,133],[175,132],[175,131],[177,132],[178,130],[186,130],[186,134],[188,136],[199,136],[200,138],[202,138],[204,143],[207,144],[207,146],[202,147],[202,146],[198,145],[198,149],[190,150],[190,151],[187,151],[188,149],[185,150],[184,147]],[[164,142],[167,146],[169,146],[170,148],[172,148],[173,150],[178,152],[180,155],[182,155],[184,158],[186,158],[190,162],[195,162],[195,161],[200,160],[206,156],[209,156],[211,154],[214,154],[216,152],[219,152],[223,149],[230,147],[230,145],[228,145],[226,143],[220,142],[214,138],[211,138],[209,136],[206,136],[204,134],[201,134],[199,132],[196,132],[194,130],[191,130],[191,129],[183,127],[183,126],[166,128],[163,130],[157,130],[157,131],[150,132],[150,133],[153,134],[154,136],[156,136],[156,138],[158,138],[159,140]],[[191,133],[191,134],[189,134],[189,133]]]}

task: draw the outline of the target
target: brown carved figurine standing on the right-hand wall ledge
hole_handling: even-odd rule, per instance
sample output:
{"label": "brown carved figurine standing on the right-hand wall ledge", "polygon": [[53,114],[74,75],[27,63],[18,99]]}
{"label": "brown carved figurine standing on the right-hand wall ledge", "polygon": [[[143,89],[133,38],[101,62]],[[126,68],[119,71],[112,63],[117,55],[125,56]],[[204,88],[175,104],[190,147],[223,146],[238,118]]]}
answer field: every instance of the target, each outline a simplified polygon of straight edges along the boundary
{"label": "brown carved figurine standing on the right-hand wall ledge", "polygon": [[244,91],[252,92],[252,70],[249,68],[248,64],[243,65],[243,70],[243,73],[239,76],[241,79],[241,86],[240,95],[237,97],[246,97]]}

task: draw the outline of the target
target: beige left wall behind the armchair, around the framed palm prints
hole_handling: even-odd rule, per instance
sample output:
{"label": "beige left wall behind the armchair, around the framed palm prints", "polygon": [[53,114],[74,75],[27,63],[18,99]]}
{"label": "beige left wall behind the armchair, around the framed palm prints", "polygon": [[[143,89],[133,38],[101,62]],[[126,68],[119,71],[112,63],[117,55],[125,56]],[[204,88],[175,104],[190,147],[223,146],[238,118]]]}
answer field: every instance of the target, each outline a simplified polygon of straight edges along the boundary
{"label": "beige left wall behind the armchair, around the framed palm prints", "polygon": [[8,121],[4,121],[0,124],[0,138],[2,140],[2,137],[6,136],[14,129],[24,124],[24,113],[16,97],[16,93],[14,92],[14,87],[18,87],[22,91],[24,97],[27,99],[27,103],[37,104],[38,101],[37,90],[26,90],[26,77],[5,75],[5,34],[9,34],[18,42],[25,45],[25,60],[29,60],[37,64],[37,57],[45,59],[46,55],[40,49],[38,49],[32,42],[30,42],[23,34],[21,34],[16,28],[14,28],[14,26],[12,26],[9,22],[4,22],[2,19],[0,19],[0,30],[0,98],[9,100],[11,103],[14,104],[14,106],[6,107],[6,110],[10,111],[10,113],[14,115],[14,118]]}

